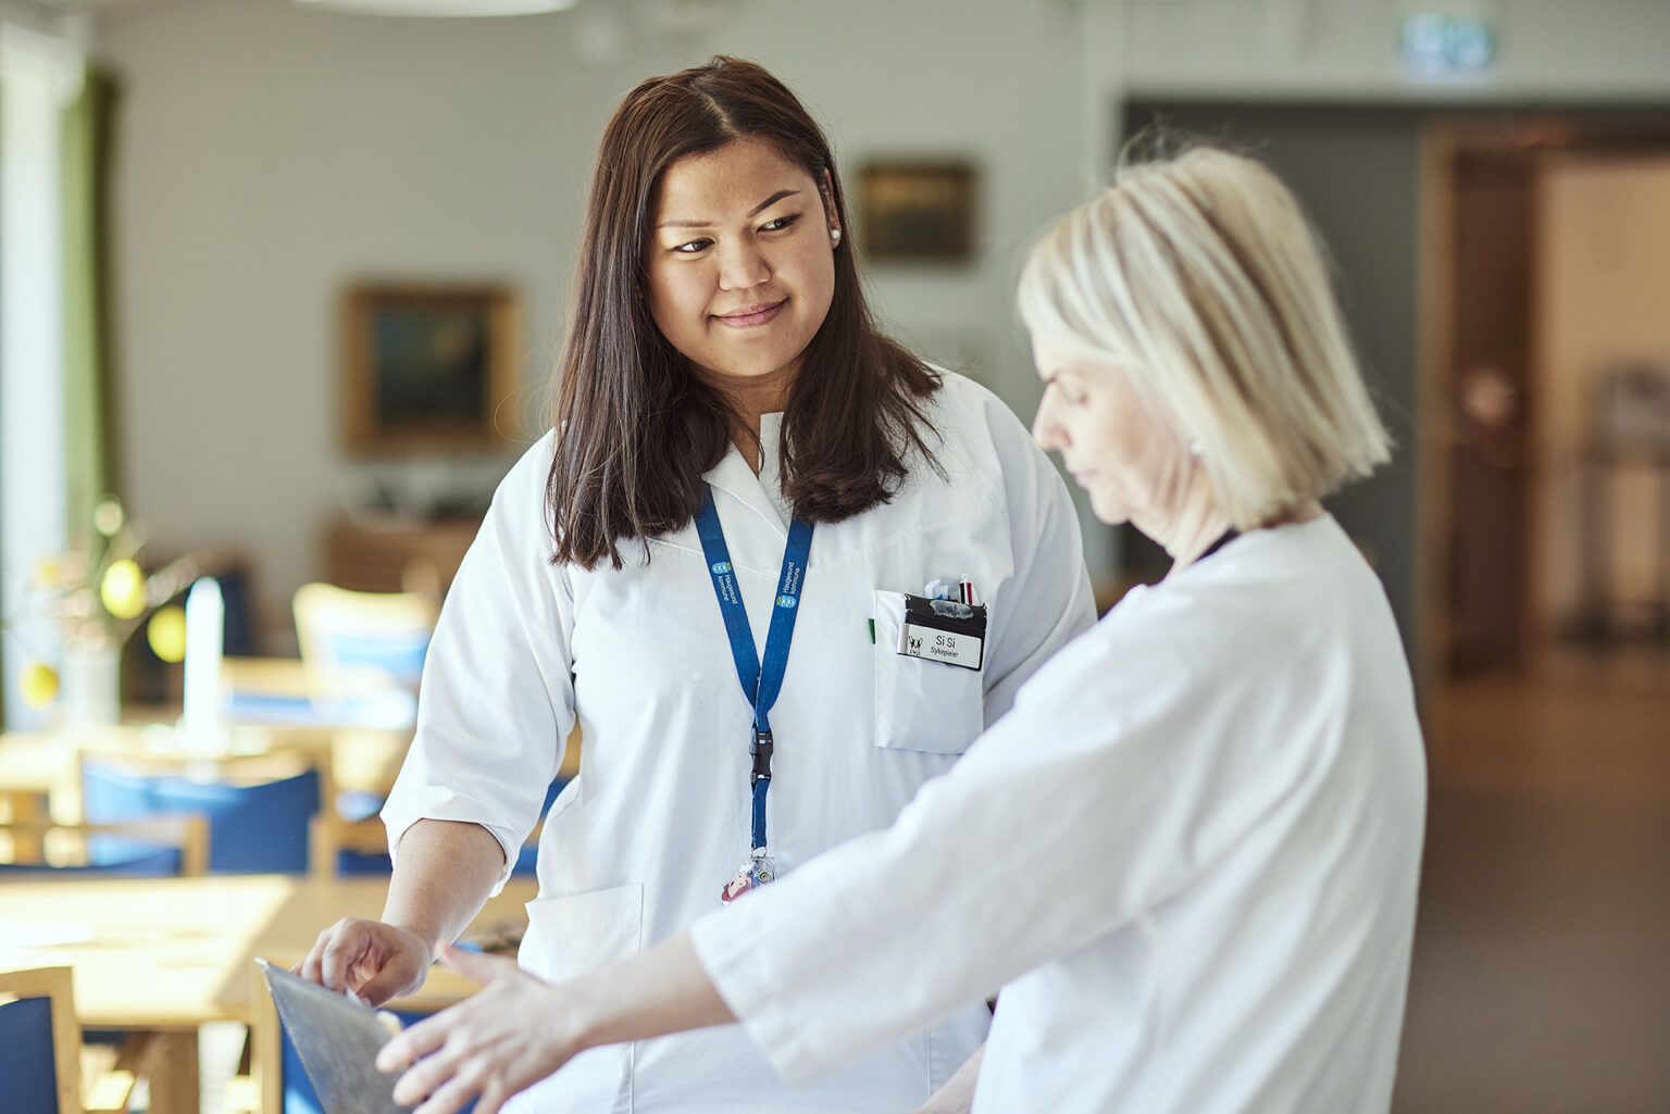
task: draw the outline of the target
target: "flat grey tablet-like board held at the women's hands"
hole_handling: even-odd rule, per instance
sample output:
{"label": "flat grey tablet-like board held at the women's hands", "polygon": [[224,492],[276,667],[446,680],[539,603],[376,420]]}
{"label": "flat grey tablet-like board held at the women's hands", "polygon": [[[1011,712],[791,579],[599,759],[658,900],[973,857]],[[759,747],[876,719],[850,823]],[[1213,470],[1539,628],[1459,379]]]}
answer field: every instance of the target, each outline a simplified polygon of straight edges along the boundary
{"label": "flat grey tablet-like board held at the women's hands", "polygon": [[256,964],[272,990],[279,1020],[319,1094],[324,1114],[401,1114],[412,1109],[394,1101],[399,1076],[384,1076],[376,1066],[377,1049],[401,1029],[394,1014],[361,1005],[264,959]]}

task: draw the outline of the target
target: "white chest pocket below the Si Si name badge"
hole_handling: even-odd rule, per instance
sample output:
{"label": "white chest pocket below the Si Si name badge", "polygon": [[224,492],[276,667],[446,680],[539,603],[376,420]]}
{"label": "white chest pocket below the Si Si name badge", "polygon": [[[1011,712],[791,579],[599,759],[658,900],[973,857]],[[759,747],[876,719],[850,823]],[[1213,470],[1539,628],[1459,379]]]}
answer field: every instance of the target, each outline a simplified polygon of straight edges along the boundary
{"label": "white chest pocket below the Si Si name badge", "polygon": [[897,651],[905,596],[877,591],[875,745],[960,755],[984,730],[982,670],[912,658]]}

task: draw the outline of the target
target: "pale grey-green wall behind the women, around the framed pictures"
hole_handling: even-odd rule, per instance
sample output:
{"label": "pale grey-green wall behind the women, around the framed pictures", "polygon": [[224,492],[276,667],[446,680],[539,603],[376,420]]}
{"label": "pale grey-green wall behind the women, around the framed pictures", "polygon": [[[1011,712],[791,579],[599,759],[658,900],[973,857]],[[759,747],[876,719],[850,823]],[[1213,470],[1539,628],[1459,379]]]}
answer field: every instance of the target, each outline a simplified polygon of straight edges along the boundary
{"label": "pale grey-green wall behind the women, around the framed pictures", "polygon": [[[261,554],[272,601],[317,573],[316,531],[382,476],[486,484],[504,458],[391,469],[336,439],[334,296],[362,276],[494,277],[526,297],[526,369],[556,354],[598,130],[640,77],[758,58],[823,120],[848,184],[870,157],[980,169],[965,271],[877,271],[883,317],[1022,414],[1037,386],[1010,309],[1027,239],[1084,197],[1126,90],[1217,97],[1670,100],[1663,0],[1455,0],[1500,32],[1490,80],[1404,82],[1404,0],[583,0],[506,20],[386,20],[287,0],[110,7],[125,77],[117,359],[134,511],[165,544]],[[1423,5],[1440,7],[1440,5]],[[718,12],[646,30],[653,10]],[[606,63],[581,60],[581,43]],[[529,436],[533,426],[529,423]],[[458,473],[448,479],[448,471]],[[1092,571],[1111,560],[1087,523]]]}

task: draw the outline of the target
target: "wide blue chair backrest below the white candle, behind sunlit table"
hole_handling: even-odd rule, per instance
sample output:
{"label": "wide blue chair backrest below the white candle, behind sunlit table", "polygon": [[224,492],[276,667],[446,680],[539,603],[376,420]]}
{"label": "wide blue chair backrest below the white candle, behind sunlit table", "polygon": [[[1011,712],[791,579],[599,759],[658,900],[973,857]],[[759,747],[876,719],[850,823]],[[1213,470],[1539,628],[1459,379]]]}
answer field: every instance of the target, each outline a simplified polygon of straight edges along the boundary
{"label": "wide blue chair backrest below the white candle, behind sunlit table", "polygon": [[[82,813],[94,823],[197,813],[209,822],[209,873],[302,873],[329,777],[319,758],[297,757],[296,765],[306,768],[250,780],[235,765],[155,772],[84,752]],[[130,842],[100,837],[95,862],[134,853]]]}

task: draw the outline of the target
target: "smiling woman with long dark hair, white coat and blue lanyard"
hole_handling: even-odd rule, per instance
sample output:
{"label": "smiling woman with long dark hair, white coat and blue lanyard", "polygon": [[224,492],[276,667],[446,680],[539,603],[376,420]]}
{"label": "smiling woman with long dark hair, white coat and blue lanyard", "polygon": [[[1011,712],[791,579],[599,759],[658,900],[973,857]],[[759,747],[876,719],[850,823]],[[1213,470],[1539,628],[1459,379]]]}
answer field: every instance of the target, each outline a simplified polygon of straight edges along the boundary
{"label": "smiling woman with long dark hair, white coat and blue lanyard", "polygon": [[[551,980],[892,823],[1091,626],[1064,484],[990,392],[882,336],[845,232],[828,144],[758,65],[628,94],[554,429],[429,650],[384,917],[326,930],[304,974],[371,1002],[419,985],[508,877],[576,720],[519,955]],[[735,1029],[600,1049],[513,1109],[903,1111],[987,1022],[975,1002],[795,1089]]]}

